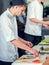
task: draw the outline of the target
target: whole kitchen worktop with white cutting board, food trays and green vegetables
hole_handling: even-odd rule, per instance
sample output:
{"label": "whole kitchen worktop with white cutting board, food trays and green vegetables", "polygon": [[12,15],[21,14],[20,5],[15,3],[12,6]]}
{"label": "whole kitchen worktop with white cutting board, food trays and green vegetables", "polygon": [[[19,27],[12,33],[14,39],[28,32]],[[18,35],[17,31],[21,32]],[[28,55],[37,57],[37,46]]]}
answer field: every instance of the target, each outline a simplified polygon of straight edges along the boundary
{"label": "whole kitchen worktop with white cutting board, food trays and green vegetables", "polygon": [[[47,40],[48,36],[45,38]],[[12,65],[42,65],[47,56],[49,56],[49,50],[41,50],[41,47],[44,49],[49,47],[49,42],[43,40],[38,45],[34,46],[34,48],[40,52],[39,57],[34,57],[34,55],[30,54],[26,51],[26,55],[21,56]],[[36,61],[36,62],[35,62]]]}

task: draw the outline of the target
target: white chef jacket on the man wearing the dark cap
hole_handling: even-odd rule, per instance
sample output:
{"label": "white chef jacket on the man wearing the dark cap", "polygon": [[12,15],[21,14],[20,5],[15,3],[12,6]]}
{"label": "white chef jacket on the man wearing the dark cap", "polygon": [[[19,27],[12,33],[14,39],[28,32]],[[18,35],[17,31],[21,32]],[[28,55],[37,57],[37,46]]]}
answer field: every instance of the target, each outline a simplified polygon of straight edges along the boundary
{"label": "white chef jacket on the man wearing the dark cap", "polygon": [[16,18],[7,9],[0,16],[0,60],[13,62],[18,58],[18,49],[10,41],[18,39]]}

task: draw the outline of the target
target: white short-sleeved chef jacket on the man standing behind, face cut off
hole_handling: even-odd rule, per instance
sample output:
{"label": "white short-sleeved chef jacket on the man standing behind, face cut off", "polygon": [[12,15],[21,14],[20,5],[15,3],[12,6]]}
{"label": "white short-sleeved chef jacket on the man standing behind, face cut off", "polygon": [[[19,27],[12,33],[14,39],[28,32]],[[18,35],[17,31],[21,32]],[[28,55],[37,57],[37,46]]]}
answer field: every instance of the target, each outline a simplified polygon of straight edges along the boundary
{"label": "white short-sleeved chef jacket on the man standing behind, face cut off", "polygon": [[31,22],[31,18],[43,20],[43,6],[38,2],[38,0],[34,0],[28,5],[25,33],[35,36],[41,36],[42,25]]}

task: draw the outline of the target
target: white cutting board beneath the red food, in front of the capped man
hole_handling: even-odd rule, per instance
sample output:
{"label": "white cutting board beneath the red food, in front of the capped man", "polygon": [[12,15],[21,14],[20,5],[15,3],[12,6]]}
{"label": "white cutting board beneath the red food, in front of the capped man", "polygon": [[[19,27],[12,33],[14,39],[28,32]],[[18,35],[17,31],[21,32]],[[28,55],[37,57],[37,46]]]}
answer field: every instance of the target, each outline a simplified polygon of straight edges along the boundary
{"label": "white cutting board beneath the red food, in front of the capped man", "polygon": [[39,57],[34,57],[33,55],[23,55],[22,57],[18,58],[12,65],[42,65],[42,61],[40,62],[33,62],[34,60],[40,60]]}

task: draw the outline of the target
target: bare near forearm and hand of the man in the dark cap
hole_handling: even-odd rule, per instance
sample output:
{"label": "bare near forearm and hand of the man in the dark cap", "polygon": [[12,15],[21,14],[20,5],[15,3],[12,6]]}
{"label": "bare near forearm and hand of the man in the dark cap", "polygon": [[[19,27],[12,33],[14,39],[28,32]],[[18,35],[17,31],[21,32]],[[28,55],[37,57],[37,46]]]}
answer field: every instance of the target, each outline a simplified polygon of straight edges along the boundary
{"label": "bare near forearm and hand of the man in the dark cap", "polygon": [[39,55],[35,49],[30,48],[26,44],[22,43],[19,39],[14,39],[11,41],[11,43],[14,44],[15,46],[17,46],[18,48],[29,51],[30,53],[34,54],[35,56]]}

